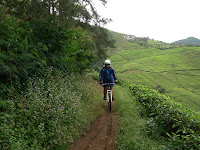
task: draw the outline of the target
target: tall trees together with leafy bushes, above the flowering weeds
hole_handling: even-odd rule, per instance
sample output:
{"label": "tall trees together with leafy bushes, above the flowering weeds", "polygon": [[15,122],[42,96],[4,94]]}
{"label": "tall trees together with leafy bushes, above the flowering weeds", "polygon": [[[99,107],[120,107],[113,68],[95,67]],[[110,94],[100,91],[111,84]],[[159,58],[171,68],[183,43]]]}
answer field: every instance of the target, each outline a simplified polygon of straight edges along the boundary
{"label": "tall trees together with leafy bushes, above the flowering weeds", "polygon": [[83,72],[105,58],[106,49],[114,46],[102,27],[108,21],[98,15],[92,0],[1,0],[1,97],[9,99],[12,80],[19,88],[46,67]]}

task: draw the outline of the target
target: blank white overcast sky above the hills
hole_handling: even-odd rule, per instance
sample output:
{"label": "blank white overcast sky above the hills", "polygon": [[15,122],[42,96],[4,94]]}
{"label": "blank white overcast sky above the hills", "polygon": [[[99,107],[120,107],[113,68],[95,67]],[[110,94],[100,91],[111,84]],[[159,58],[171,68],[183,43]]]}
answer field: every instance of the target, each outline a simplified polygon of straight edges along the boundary
{"label": "blank white overcast sky above the hills", "polygon": [[106,6],[95,5],[101,17],[113,20],[104,27],[115,32],[167,43],[200,39],[200,0],[107,0]]}

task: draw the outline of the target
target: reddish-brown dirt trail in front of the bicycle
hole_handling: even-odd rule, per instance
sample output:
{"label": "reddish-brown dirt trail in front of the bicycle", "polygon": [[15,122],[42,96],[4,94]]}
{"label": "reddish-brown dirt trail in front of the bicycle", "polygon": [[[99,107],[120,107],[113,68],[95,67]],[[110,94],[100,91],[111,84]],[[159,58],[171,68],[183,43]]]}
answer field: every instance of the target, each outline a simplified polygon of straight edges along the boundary
{"label": "reddish-brown dirt trail in front of the bicycle", "polygon": [[105,113],[97,118],[88,131],[76,141],[69,150],[116,150],[119,119],[115,113],[114,101],[112,112],[105,101]]}

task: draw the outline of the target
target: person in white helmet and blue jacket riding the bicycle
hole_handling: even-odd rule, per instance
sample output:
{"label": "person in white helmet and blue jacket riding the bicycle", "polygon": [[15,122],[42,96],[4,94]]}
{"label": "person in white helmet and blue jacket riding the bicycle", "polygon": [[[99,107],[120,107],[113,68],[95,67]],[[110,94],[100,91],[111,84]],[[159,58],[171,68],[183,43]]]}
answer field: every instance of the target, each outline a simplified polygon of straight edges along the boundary
{"label": "person in white helmet and blue jacket riding the bicycle", "polygon": [[[111,67],[110,60],[105,60],[105,66],[102,67],[99,75],[100,83],[117,83],[117,76],[114,68]],[[113,86],[114,84],[110,85],[110,89],[112,90],[113,95]],[[104,100],[106,100],[108,85],[104,85]],[[112,98],[114,100],[114,97]]]}

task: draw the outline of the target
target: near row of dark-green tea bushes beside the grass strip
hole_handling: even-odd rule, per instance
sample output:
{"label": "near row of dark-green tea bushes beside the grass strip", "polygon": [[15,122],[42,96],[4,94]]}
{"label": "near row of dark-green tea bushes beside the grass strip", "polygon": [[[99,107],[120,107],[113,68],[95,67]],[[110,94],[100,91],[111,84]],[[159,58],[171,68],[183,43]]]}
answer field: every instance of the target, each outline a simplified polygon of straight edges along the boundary
{"label": "near row of dark-green tea bushes beside the grass strip", "polygon": [[175,103],[149,87],[134,85],[127,81],[122,81],[121,84],[129,87],[136,99],[148,110],[151,117],[148,122],[150,133],[156,129],[161,135],[167,134],[171,141],[170,148],[199,148],[199,113]]}

